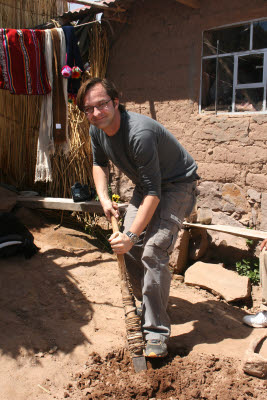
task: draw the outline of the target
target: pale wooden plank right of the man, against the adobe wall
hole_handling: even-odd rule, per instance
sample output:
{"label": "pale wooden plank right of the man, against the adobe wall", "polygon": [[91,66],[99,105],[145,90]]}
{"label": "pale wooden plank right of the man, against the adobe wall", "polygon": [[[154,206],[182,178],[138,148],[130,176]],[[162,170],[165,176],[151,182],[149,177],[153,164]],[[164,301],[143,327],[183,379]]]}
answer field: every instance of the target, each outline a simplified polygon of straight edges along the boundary
{"label": "pale wooden plank right of the man, against the adobe wall", "polygon": [[204,224],[193,224],[184,222],[183,226],[186,228],[200,228],[211,231],[229,233],[234,236],[241,236],[248,239],[267,239],[267,232],[258,231],[255,229],[239,228],[237,226],[228,225],[204,225]]}

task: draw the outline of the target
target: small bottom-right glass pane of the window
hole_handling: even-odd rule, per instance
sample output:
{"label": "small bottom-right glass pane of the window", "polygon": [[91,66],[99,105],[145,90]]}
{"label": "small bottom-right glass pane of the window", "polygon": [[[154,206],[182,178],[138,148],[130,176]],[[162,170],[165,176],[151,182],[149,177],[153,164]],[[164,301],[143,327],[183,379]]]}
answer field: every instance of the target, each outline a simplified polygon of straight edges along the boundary
{"label": "small bottom-right glass pane of the window", "polygon": [[262,111],[263,88],[237,89],[235,111]]}

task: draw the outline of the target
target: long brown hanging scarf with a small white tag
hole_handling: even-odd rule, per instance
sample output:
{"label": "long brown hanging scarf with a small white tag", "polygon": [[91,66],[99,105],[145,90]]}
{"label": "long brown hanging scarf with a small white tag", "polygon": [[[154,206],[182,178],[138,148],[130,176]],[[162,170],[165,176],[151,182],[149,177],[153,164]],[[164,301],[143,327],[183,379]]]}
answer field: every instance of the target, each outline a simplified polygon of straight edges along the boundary
{"label": "long brown hanging scarf with a small white tag", "polygon": [[51,29],[53,42],[53,137],[55,145],[61,145],[63,152],[69,151],[68,139],[68,95],[67,82],[61,75],[66,42],[62,28]]}

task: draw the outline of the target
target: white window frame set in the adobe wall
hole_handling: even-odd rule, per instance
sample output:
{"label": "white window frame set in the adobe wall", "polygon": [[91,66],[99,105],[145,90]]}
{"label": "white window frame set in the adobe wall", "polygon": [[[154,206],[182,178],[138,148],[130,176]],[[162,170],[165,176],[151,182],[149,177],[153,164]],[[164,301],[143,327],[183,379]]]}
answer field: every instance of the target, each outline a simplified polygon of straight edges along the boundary
{"label": "white window frame set in the adobe wall", "polygon": [[[246,114],[267,114],[267,105],[266,105],[266,86],[267,86],[267,47],[264,49],[257,49],[257,50],[252,50],[252,45],[253,45],[253,24],[255,22],[262,22],[266,21],[267,22],[267,17],[266,18],[261,18],[261,19],[255,19],[255,20],[250,20],[250,21],[245,21],[245,22],[238,22],[235,24],[229,24],[229,25],[223,25],[219,26],[216,28],[212,28],[209,30],[205,30],[202,32],[202,55],[201,55],[201,70],[200,70],[200,97],[199,97],[199,113],[200,114],[211,114],[215,113],[215,111],[205,111],[201,109],[201,102],[202,102],[202,66],[203,66],[203,60],[208,60],[208,59],[216,59],[222,58],[222,57],[234,57],[234,71],[233,71],[233,95],[232,95],[232,111],[227,112],[227,111],[217,111],[216,114],[241,114],[241,115],[246,115]],[[203,56],[203,39],[204,39],[204,32],[207,31],[212,31],[212,30],[218,30],[221,28],[230,28],[232,26],[240,26],[240,25],[245,25],[245,24],[250,24],[250,43],[249,43],[249,50],[247,51],[242,51],[242,52],[233,52],[233,53],[223,53],[219,55],[211,55],[211,56]],[[262,82],[257,82],[257,83],[247,83],[247,84],[238,84],[237,83],[237,73],[238,73],[238,58],[241,56],[246,56],[246,55],[251,55],[251,54],[263,54],[263,74],[262,74]],[[262,110],[261,111],[235,111],[235,93],[236,89],[251,89],[251,88],[263,88],[263,102],[262,102]]]}

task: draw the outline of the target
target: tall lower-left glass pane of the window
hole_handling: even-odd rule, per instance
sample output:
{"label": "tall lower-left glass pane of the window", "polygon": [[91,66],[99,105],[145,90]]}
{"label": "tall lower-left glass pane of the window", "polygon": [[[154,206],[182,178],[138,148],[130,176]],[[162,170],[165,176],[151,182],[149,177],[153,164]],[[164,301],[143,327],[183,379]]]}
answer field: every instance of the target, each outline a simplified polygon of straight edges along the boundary
{"label": "tall lower-left glass pane of the window", "polygon": [[[203,60],[202,69],[202,110],[214,111],[216,96],[216,58]],[[218,111],[232,111],[233,69],[233,57],[218,58]]]}

